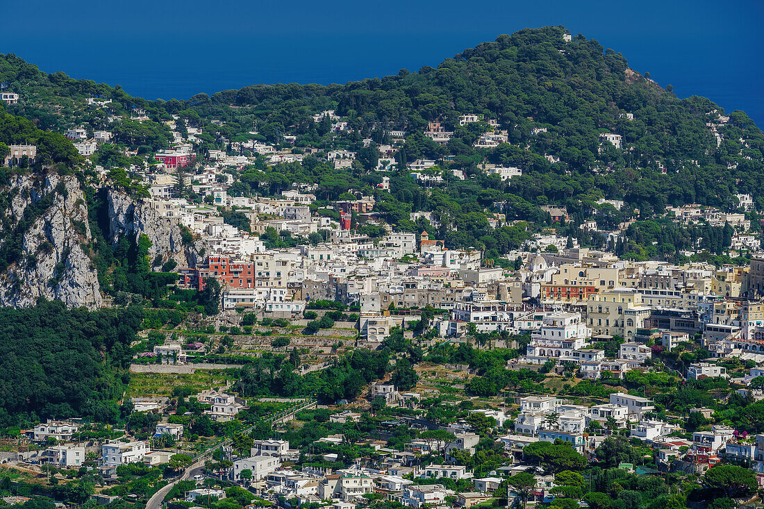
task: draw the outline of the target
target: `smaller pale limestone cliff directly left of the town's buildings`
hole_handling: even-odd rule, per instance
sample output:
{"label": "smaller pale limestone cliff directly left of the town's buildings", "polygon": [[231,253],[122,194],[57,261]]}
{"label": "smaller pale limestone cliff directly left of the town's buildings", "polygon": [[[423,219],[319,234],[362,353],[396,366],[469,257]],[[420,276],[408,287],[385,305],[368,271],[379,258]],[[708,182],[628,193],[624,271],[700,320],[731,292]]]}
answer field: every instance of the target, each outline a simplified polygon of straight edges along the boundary
{"label": "smaller pale limestone cliff directly left of the town's buildings", "polygon": [[170,260],[174,260],[177,267],[196,267],[201,258],[200,246],[183,245],[179,220],[162,216],[151,206],[151,202],[136,201],[119,190],[109,190],[108,217],[108,236],[112,246],[116,246],[125,235],[134,242],[138,242],[141,235],[148,237],[152,263],[161,260],[154,264],[154,270],[159,270],[161,264]]}

